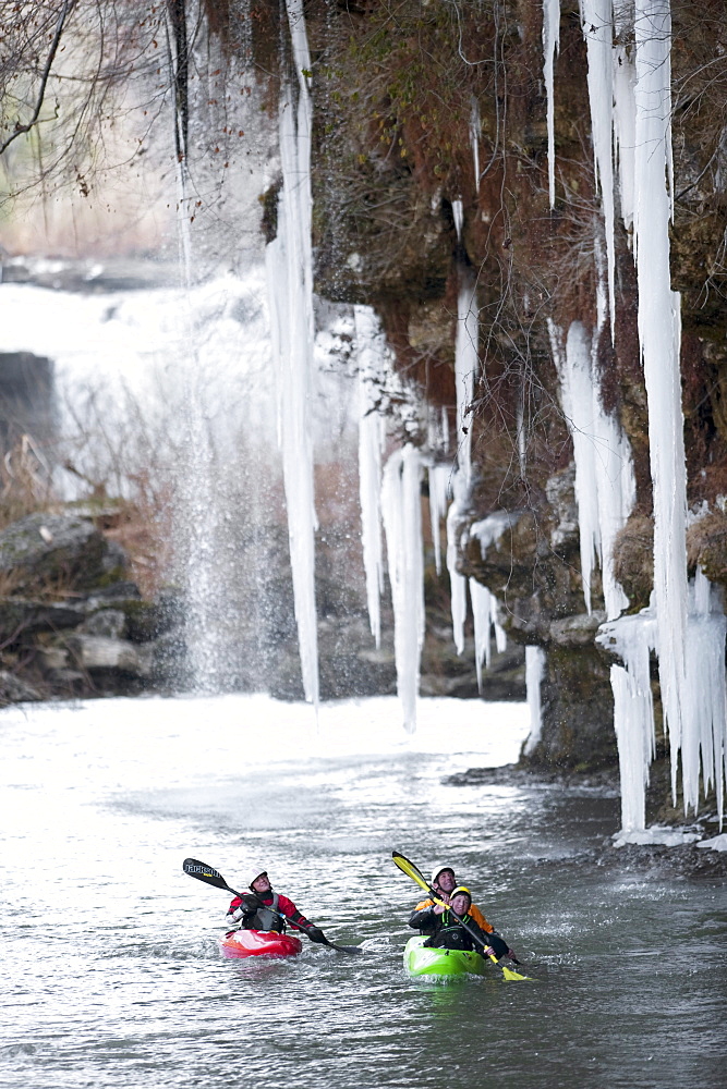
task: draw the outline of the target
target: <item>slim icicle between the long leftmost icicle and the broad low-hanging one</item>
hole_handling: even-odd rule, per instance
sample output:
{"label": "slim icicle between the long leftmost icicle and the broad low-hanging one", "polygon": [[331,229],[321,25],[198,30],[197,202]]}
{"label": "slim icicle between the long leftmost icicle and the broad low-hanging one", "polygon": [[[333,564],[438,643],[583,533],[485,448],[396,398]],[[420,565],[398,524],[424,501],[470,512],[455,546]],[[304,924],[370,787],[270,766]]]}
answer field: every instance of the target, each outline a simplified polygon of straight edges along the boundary
{"label": "slim icicle between the long leftmost icicle and the broad low-hanging one", "polygon": [[381,451],[384,418],[376,412],[373,380],[380,374],[384,356],[384,334],[379,321],[368,306],[354,307],[359,358],[359,495],[361,499],[361,541],[368,622],[376,646],[381,643],[380,596],[384,590],[384,556],[381,551]]}

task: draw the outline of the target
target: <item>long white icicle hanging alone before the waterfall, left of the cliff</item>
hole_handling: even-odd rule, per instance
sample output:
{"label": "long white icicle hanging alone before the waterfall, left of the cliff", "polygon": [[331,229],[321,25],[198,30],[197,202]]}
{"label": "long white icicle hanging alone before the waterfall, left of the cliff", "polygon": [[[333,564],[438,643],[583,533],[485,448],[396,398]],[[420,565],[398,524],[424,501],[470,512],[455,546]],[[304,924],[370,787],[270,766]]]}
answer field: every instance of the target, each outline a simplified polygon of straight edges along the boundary
{"label": "long white icicle hanging alone before the waterfall, left of the cliff", "polygon": [[[311,69],[301,0],[287,0],[298,94],[283,84],[279,107],[282,189],[278,235],[266,249],[272,358],[276,364],[279,439],[288,506],[301,671],[305,698],[318,705],[318,636],[315,603],[317,528],[311,387],[313,382],[313,260],[311,249]],[[295,103],[296,99],[296,103]]]}

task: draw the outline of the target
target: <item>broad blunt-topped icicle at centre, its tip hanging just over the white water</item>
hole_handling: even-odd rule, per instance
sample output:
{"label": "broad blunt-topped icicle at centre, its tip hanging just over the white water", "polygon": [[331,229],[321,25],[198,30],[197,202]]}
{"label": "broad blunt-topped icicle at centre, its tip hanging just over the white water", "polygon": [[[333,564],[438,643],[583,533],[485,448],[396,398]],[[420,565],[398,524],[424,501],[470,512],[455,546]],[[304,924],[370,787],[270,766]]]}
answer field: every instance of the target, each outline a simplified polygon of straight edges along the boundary
{"label": "broad blunt-topped icicle at centre, its tip hanging just over the white water", "polygon": [[381,489],[393,603],[397,689],[404,730],[409,733],[416,729],[420,658],[424,644],[421,477],[419,451],[407,445],[391,454],[386,463]]}

